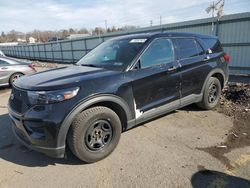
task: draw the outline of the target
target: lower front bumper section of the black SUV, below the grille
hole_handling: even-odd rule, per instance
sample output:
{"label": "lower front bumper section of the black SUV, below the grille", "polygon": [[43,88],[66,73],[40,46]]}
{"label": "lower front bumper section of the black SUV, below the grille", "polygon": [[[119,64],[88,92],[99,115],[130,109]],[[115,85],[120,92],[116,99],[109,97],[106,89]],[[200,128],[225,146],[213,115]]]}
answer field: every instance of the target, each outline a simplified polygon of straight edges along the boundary
{"label": "lower front bumper section of the black SUV, below the grille", "polygon": [[[27,120],[24,115],[14,112],[8,105],[9,116],[13,122],[12,130],[16,138],[26,147],[44,153],[51,157],[63,158],[65,146],[49,147],[50,141],[38,132],[27,130],[24,122]],[[40,122],[42,124],[43,122]]]}

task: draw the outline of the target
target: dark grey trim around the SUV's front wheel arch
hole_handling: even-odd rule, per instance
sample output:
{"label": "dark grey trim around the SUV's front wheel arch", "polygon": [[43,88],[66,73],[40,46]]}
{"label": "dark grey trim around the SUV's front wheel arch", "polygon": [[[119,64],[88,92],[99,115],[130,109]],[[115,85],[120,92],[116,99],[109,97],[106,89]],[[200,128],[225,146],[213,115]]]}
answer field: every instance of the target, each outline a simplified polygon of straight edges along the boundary
{"label": "dark grey trim around the SUV's front wheel arch", "polygon": [[128,104],[120,97],[116,95],[98,95],[95,97],[88,98],[80,102],[64,119],[57,137],[57,146],[64,146],[67,139],[67,134],[75,116],[82,111],[94,107],[94,106],[105,106],[117,113],[123,129],[126,129],[127,121],[132,119],[132,113]]}

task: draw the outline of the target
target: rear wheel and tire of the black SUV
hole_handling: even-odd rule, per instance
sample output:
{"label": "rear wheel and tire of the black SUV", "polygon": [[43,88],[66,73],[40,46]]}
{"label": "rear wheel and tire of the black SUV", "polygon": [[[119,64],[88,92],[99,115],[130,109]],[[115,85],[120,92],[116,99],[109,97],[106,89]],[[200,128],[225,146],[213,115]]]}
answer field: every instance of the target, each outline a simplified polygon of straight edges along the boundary
{"label": "rear wheel and tire of the black SUV", "polygon": [[197,103],[197,106],[210,110],[215,108],[220,102],[221,83],[215,77],[210,77],[203,91],[202,101]]}

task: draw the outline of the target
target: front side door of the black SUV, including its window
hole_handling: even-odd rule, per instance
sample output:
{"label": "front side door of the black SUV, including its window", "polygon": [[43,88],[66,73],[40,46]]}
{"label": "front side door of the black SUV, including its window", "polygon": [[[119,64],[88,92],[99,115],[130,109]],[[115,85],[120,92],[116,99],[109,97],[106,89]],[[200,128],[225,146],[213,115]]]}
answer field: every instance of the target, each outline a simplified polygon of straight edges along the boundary
{"label": "front side door of the black SUV, including its window", "polygon": [[180,77],[171,39],[159,38],[151,42],[133,71],[132,82],[135,108],[146,112],[161,105],[178,101]]}

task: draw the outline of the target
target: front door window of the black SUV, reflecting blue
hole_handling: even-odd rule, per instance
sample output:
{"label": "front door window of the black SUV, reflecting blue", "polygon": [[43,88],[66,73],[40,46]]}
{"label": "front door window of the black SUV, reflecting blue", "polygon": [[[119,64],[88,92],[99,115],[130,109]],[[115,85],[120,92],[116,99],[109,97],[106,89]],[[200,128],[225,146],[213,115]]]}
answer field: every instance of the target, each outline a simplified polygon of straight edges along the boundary
{"label": "front door window of the black SUV, reflecting blue", "polygon": [[143,53],[140,59],[141,68],[170,63],[174,61],[173,44],[170,39],[156,39]]}

